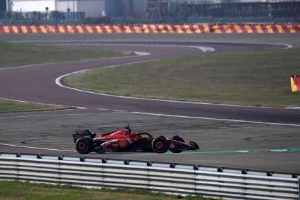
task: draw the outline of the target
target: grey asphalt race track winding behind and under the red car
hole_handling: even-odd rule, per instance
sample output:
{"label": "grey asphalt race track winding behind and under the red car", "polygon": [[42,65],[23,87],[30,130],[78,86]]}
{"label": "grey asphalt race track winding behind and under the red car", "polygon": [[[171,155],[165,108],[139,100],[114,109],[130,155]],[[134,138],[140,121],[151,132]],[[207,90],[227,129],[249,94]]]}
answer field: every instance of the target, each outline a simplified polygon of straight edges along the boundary
{"label": "grey asphalt race track winding behind and under the red car", "polygon": [[[3,34],[0,40],[150,54],[0,69],[0,98],[85,108],[0,114],[1,152],[78,155],[71,136],[74,130],[90,129],[102,133],[129,123],[137,132],[148,131],[167,137],[182,135],[184,139],[200,144],[202,151],[178,155],[92,153],[89,156],[300,173],[299,110],[120,98],[57,85],[57,78],[82,69],[178,56],[287,47],[278,44],[299,46],[297,34],[242,34],[244,38],[241,34],[231,34],[219,36],[219,39],[212,34],[199,38],[180,35],[177,41],[174,34],[170,38],[166,34],[140,34],[136,38],[127,34],[123,38],[120,38],[122,34],[84,35],[85,38],[82,34],[71,34],[67,40],[66,34]],[[207,49],[215,51],[205,52]]]}

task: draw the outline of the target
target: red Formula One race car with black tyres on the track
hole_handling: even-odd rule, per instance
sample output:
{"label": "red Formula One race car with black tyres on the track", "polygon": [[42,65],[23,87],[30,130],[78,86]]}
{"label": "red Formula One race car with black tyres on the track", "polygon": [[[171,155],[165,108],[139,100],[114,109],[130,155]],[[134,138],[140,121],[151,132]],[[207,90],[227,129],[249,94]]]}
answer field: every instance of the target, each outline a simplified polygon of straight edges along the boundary
{"label": "red Formula One race car with black tyres on the track", "polygon": [[185,143],[182,137],[175,135],[171,139],[164,136],[153,137],[149,133],[131,133],[129,126],[120,131],[96,135],[88,130],[75,131],[73,134],[76,151],[86,154],[92,151],[105,152],[155,152],[181,153],[184,150],[197,150],[195,142]]}

